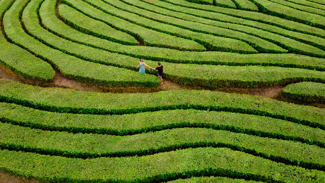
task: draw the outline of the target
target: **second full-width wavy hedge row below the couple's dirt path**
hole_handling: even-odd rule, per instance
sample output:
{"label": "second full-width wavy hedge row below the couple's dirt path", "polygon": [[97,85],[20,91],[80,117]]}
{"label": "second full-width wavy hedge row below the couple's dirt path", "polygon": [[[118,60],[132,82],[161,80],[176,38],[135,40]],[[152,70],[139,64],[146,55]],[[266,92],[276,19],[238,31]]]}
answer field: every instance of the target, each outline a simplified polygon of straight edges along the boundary
{"label": "second full-width wavy hedge row below the couple's dirt path", "polygon": [[323,130],[281,119],[229,112],[190,109],[124,115],[89,115],[53,113],[0,103],[0,120],[42,130],[119,136],[185,127],[211,128],[325,147]]}

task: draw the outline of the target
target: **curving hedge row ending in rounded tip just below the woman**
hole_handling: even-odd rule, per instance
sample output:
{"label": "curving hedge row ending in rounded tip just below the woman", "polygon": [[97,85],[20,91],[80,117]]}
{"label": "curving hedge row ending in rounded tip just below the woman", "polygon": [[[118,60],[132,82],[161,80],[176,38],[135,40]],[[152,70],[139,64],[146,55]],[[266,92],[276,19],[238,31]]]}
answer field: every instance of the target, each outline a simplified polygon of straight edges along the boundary
{"label": "curving hedge row ending in rounded tip just below the woman", "polygon": [[[106,86],[155,86],[159,84],[158,79],[154,76],[143,75],[141,73],[136,73],[121,68],[85,62],[84,60],[74,56],[70,56],[58,50],[52,49],[40,43],[33,37],[30,37],[24,32],[19,18],[20,13],[26,3],[28,2],[16,1],[5,14],[4,28],[8,38],[17,45],[20,45],[35,55],[47,60],[64,76],[85,83]],[[25,12],[24,15],[26,16],[26,14],[28,15],[28,13]],[[38,19],[37,15],[36,18]],[[26,20],[26,18],[24,20]],[[24,23],[38,24],[35,21],[25,21]],[[32,28],[32,31],[42,30],[43,32],[46,32],[46,30],[42,27],[40,29],[35,29],[35,27],[28,28]],[[40,34],[43,33],[42,31]]]}

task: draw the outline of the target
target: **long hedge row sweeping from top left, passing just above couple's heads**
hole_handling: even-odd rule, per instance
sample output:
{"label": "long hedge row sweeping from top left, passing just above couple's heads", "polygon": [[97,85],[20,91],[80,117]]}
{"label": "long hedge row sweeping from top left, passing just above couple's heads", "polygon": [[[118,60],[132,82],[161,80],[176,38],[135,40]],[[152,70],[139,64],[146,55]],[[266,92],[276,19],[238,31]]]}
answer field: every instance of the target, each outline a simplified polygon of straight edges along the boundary
{"label": "long hedge row sweeping from top left, passing just above couple's heads", "polygon": [[[239,66],[271,65],[271,66],[298,67],[298,68],[325,71],[325,66],[323,65],[324,63],[323,59],[302,56],[302,55],[294,55],[294,54],[248,54],[248,55],[246,54],[245,55],[245,54],[225,53],[225,52],[184,52],[184,51],[170,50],[165,48],[119,45],[113,42],[108,42],[107,40],[102,40],[95,37],[91,37],[89,35],[82,34],[76,31],[75,29],[72,29],[71,27],[67,26],[63,22],[59,21],[55,16],[55,1],[46,0],[40,8],[40,16],[44,26],[46,26],[52,33],[57,34],[60,37],[87,46],[101,48],[104,50],[117,52],[124,55],[125,54],[131,55],[138,58],[151,59],[159,62],[173,62],[173,63],[184,63],[184,64],[209,64],[209,65],[222,64],[222,65],[239,65]],[[76,45],[74,45],[73,47],[75,46]],[[89,50],[90,49],[88,48],[88,53]],[[106,52],[105,55],[107,54],[109,53]],[[98,55],[100,54],[96,52],[95,55],[96,58],[98,58],[99,57]],[[104,60],[106,61],[106,63],[110,62],[109,63],[110,65],[118,66],[118,67],[130,65],[130,67],[127,67],[128,69],[134,68],[134,65],[138,65],[138,62],[136,62],[135,64],[130,64],[131,62],[130,60],[133,59],[127,59],[127,56],[124,56],[122,59],[115,58],[115,59],[104,59]],[[99,60],[96,61],[100,62]],[[112,63],[114,61],[117,62]],[[101,63],[104,64],[103,60],[101,60]],[[123,64],[117,64],[117,63],[123,63]],[[207,69],[207,71],[209,70]]]}

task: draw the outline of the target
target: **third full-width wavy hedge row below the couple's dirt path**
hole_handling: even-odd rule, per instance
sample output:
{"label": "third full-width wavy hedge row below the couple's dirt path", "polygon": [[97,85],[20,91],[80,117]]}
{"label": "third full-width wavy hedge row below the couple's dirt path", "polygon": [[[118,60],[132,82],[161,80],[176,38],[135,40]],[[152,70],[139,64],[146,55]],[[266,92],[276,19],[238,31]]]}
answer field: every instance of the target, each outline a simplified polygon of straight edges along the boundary
{"label": "third full-width wavy hedge row below the couple's dirt path", "polygon": [[0,123],[0,134],[0,147],[70,158],[147,156],[176,149],[213,146],[228,147],[285,164],[325,170],[324,148],[212,129],[181,128],[111,136],[49,132]]}

